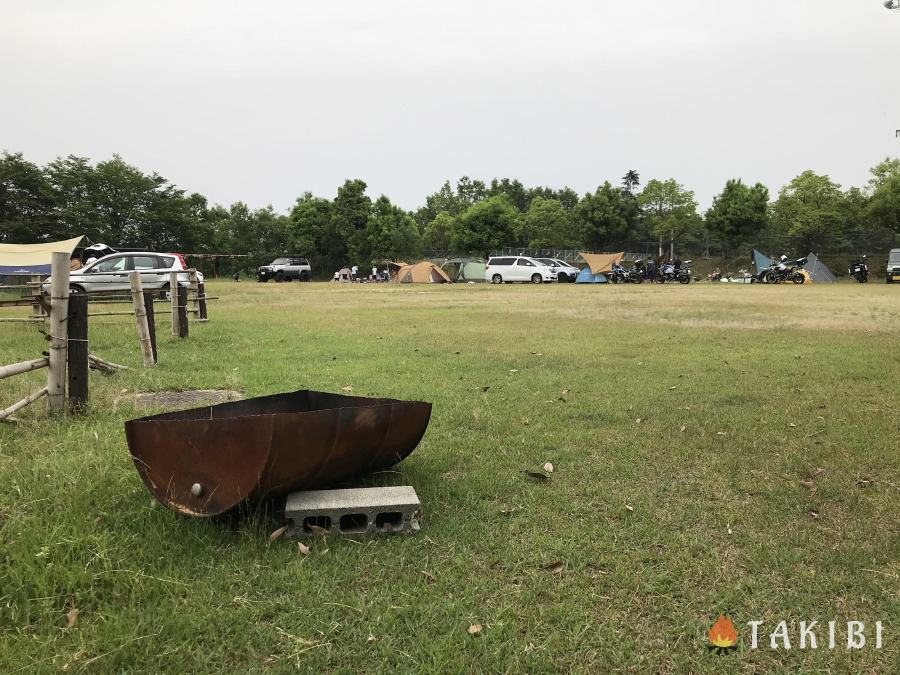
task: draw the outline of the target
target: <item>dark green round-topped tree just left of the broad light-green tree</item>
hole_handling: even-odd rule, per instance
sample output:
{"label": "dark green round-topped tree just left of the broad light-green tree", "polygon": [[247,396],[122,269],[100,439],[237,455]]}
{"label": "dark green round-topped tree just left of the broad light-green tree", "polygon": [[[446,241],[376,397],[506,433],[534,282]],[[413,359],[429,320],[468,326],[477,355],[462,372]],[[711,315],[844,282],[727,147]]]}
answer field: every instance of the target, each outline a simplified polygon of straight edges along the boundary
{"label": "dark green round-topped tree just left of the broad light-green tree", "polygon": [[729,251],[756,238],[769,225],[769,190],[757,183],[750,187],[741,179],[729,180],[722,193],[713,198],[706,212],[710,234],[722,239]]}

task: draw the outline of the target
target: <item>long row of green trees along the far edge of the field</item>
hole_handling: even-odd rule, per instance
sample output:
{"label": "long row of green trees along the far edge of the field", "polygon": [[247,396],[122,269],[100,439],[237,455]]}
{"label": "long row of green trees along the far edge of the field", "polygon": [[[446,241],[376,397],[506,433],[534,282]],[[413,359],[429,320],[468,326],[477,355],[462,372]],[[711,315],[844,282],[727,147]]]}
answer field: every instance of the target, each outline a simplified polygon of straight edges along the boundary
{"label": "long row of green trees along the far edge of the field", "polygon": [[616,183],[578,195],[568,187],[526,187],[515,179],[449,181],[408,212],[373,199],[361,180],[332,198],[304,193],[288,214],[242,202],[225,208],[145,174],[114,156],[91,164],[66,157],[38,166],[0,156],[0,241],[27,243],[78,234],[113,246],[188,253],[249,254],[249,269],[284,253],[305,255],[319,273],[423,255],[487,255],[505,247],[649,251],[674,241],[681,251],[740,254],[884,251],[900,235],[900,160],[871,170],[847,190],[806,171],[773,200],[759,183],[725,184],[706,213],[674,179]]}

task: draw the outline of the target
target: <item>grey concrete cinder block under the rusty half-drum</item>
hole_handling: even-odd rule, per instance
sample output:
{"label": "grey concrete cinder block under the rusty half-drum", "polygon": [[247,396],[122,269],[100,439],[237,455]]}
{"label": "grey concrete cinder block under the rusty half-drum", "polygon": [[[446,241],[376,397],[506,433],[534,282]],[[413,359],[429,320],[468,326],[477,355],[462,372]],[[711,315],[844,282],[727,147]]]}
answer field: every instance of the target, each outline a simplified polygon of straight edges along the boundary
{"label": "grey concrete cinder block under the rusty half-drum", "polygon": [[417,532],[422,504],[409,486],[292,492],[284,506],[287,536]]}

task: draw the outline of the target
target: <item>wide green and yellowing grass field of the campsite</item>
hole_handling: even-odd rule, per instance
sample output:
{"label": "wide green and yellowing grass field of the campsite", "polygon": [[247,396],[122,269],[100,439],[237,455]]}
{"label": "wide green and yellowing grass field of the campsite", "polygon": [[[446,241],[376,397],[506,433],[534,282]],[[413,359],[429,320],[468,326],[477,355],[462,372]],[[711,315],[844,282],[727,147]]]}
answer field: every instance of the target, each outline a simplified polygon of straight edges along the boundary
{"label": "wide green and yellowing grass field of the campsite", "polygon": [[[155,369],[93,320],[133,370],[92,375],[87,417],[0,425],[0,672],[900,670],[897,287],[213,286]],[[0,324],[0,363],[44,348]],[[346,385],[434,403],[360,483],[413,485],[415,536],[267,547],[274,516],[181,518],[128,455],[134,391]],[[801,620],[869,645],[801,651]]]}

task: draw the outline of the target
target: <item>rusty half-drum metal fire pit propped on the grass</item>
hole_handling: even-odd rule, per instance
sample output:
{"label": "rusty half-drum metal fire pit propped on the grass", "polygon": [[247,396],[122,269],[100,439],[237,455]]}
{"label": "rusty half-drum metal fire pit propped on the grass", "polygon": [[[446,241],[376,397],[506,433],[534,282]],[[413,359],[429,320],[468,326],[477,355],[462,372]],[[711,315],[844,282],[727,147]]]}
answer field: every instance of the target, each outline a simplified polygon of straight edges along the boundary
{"label": "rusty half-drum metal fire pit propped on the grass", "polygon": [[430,403],[302,390],[130,420],[125,435],[159,501],[209,518],[392,466],[430,417]]}

